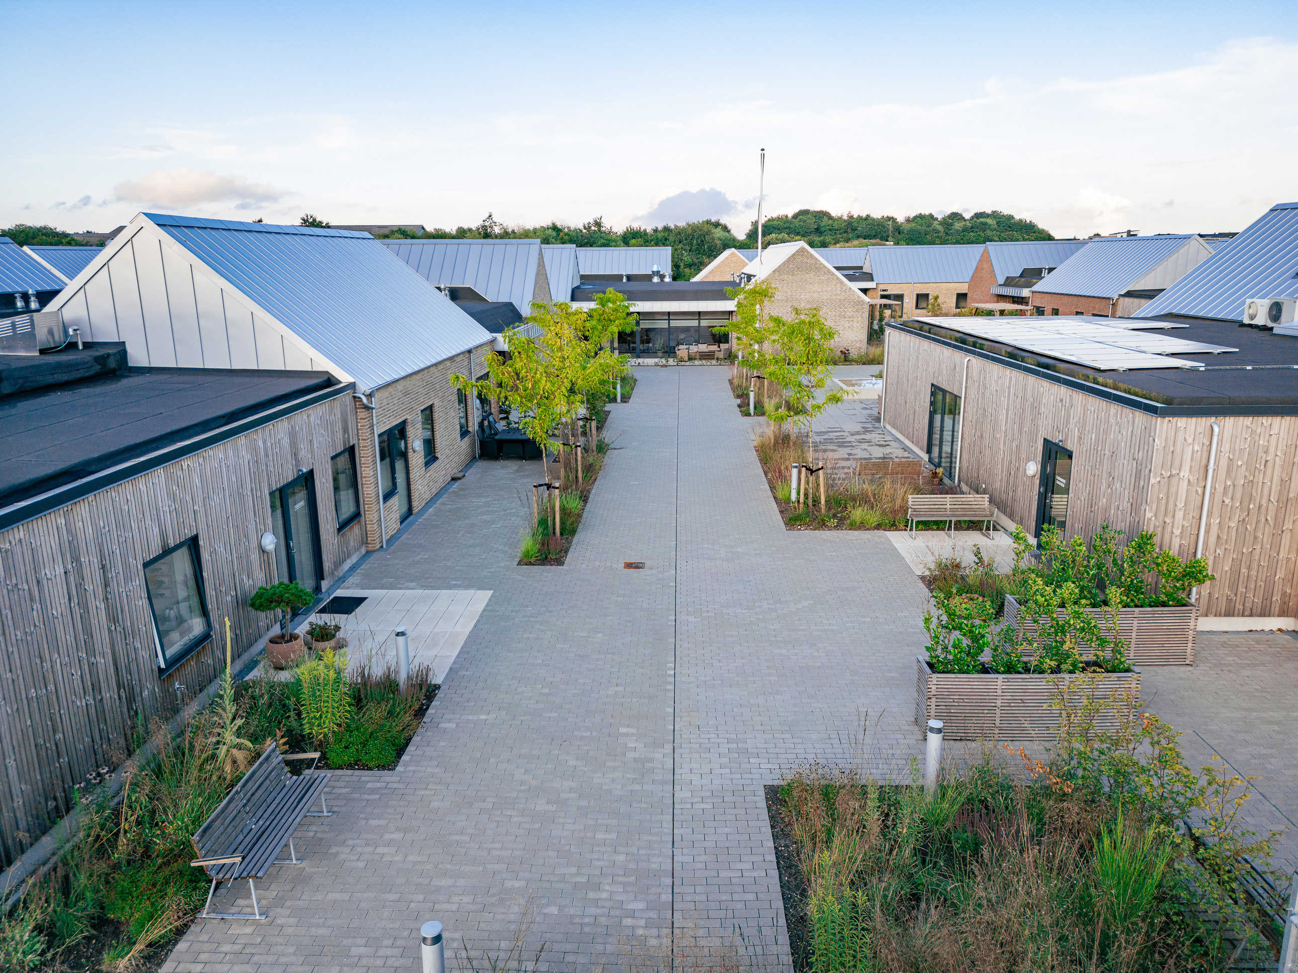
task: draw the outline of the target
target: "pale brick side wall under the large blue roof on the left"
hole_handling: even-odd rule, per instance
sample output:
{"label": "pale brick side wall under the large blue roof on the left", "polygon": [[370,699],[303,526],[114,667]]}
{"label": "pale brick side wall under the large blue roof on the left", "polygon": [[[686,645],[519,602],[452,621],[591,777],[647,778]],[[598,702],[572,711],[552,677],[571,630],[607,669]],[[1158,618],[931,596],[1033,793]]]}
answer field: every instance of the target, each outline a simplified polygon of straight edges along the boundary
{"label": "pale brick side wall under the large blue roof on the left", "polygon": [[[404,379],[384,385],[375,393],[376,416],[371,416],[369,409],[356,402],[356,428],[357,428],[357,464],[361,474],[361,493],[363,497],[362,510],[365,514],[366,550],[378,550],[379,544],[379,506],[378,506],[378,471],[374,466],[374,422],[376,419],[379,435],[393,426],[405,422],[408,463],[410,467],[410,510],[418,511],[434,494],[450,483],[452,474],[463,470],[475,455],[474,449],[478,442],[472,427],[474,411],[470,402],[469,435],[459,437],[459,401],[454,387],[450,384],[452,375],[469,375],[476,378],[485,371],[483,365],[489,344],[484,344],[472,350],[472,374],[469,371],[469,353],[458,354],[444,362],[437,362],[422,371],[408,375]],[[422,449],[422,424],[419,413],[432,405],[434,432],[437,459],[424,466]],[[398,511],[398,498],[392,496],[383,505],[383,516],[387,527],[387,536],[391,537],[401,527]]]}

